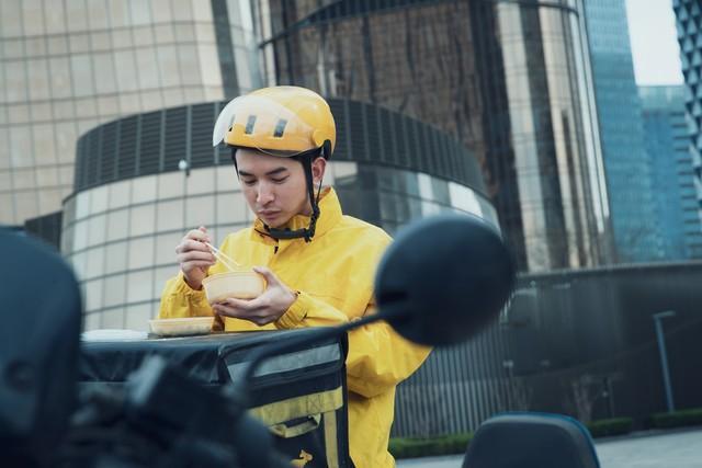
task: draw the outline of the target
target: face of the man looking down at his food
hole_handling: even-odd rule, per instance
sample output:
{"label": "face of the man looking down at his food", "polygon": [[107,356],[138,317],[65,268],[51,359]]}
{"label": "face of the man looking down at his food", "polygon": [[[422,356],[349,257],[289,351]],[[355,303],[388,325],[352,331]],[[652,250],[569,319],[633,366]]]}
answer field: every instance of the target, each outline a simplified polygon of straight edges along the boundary
{"label": "face of the man looking down at his food", "polygon": [[[283,227],[295,215],[312,215],[305,172],[299,161],[242,148],[236,152],[241,189],[256,216],[272,228]],[[326,161],[313,163],[313,178],[321,180]]]}

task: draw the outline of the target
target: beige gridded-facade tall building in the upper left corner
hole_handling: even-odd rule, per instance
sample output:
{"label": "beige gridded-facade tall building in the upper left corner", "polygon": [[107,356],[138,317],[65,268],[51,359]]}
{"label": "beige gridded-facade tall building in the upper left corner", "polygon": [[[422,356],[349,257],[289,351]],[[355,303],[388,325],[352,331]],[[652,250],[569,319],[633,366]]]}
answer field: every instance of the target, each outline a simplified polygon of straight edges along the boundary
{"label": "beige gridded-facade tall building in the upper left corner", "polygon": [[1,1],[0,225],[60,209],[95,125],[258,88],[252,34],[246,1]]}

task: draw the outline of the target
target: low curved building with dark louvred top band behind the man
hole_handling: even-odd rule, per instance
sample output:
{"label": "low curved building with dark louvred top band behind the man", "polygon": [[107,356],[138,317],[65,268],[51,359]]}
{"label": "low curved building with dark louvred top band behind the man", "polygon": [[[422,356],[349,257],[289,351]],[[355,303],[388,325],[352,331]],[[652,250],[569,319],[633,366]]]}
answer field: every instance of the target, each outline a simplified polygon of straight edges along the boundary
{"label": "low curved building with dark louvred top band behind the man", "polygon": [[[137,114],[79,139],[61,252],[83,286],[86,329],[146,329],[166,279],[178,273],[174,248],[184,233],[203,225],[222,241],[252,221],[230,152],[211,145],[224,104]],[[346,213],[390,233],[444,210],[474,213],[498,226],[479,168],[455,138],[374,105],[330,105],[339,130],[326,183],[337,189]],[[374,138],[385,150],[369,150]],[[441,157],[431,148],[441,148]],[[188,171],[179,170],[180,161]]]}

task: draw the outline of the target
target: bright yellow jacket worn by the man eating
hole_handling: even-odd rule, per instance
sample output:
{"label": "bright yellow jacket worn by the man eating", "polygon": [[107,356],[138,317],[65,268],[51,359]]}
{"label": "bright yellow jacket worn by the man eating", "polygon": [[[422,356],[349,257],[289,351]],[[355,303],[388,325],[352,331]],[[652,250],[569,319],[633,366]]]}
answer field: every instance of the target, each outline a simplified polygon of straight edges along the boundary
{"label": "bright yellow jacket worn by the man eating", "polygon": [[[374,309],[375,269],[390,238],[382,229],[344,216],[337,194],[328,189],[319,203],[312,242],[275,240],[264,235],[263,224],[227,236],[220,250],[247,266],[264,265],[299,295],[274,323],[226,318],[226,331],[293,329],[335,326]],[[288,227],[307,227],[309,218],[295,216]],[[210,274],[220,273],[220,263]],[[211,316],[204,292],[194,290],[182,273],[168,281],[161,297],[160,318]],[[347,383],[349,388],[349,445],[356,467],[393,467],[387,452],[394,418],[395,386],[409,377],[427,358],[430,349],[399,336],[385,322],[349,333]]]}

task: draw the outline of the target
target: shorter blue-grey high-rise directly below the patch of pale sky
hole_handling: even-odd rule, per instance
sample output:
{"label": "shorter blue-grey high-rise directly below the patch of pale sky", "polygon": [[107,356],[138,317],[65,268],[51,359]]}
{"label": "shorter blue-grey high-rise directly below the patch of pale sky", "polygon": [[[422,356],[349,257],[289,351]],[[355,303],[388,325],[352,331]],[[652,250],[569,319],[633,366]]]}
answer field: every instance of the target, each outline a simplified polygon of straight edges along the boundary
{"label": "shorter blue-grey high-rise directly below the patch of pale sky", "polygon": [[639,87],[646,151],[666,260],[702,256],[702,230],[692,184],[684,87]]}

